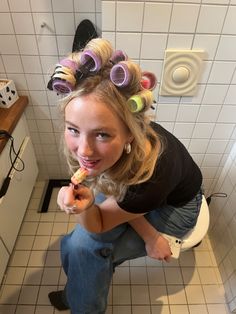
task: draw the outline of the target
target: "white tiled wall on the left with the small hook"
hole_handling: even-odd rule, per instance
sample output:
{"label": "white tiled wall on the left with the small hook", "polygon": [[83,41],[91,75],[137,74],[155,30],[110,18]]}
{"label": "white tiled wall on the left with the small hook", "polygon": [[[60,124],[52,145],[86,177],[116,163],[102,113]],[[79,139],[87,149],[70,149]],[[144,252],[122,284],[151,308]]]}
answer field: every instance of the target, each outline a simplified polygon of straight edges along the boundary
{"label": "white tiled wall on the left with the small hook", "polygon": [[18,93],[29,96],[26,117],[41,178],[68,175],[59,145],[57,96],[46,85],[86,18],[101,34],[100,0],[0,0],[0,77],[13,79]]}

